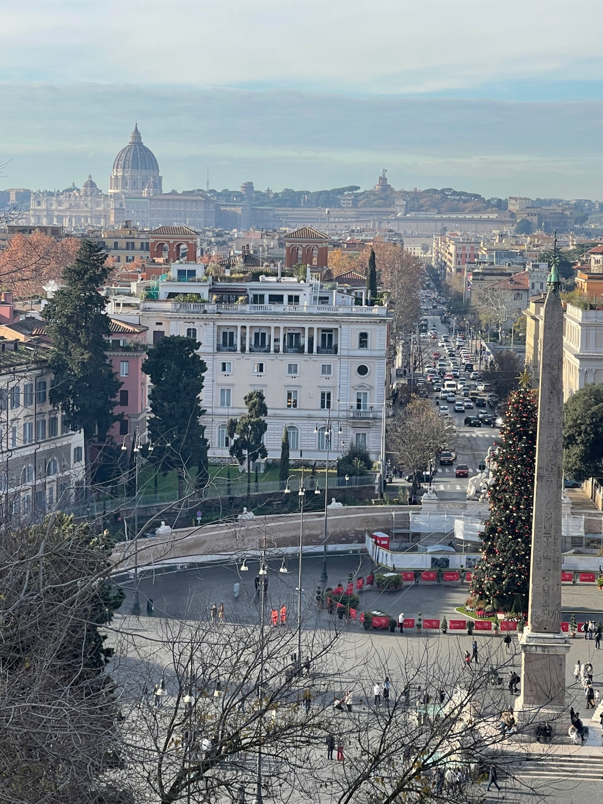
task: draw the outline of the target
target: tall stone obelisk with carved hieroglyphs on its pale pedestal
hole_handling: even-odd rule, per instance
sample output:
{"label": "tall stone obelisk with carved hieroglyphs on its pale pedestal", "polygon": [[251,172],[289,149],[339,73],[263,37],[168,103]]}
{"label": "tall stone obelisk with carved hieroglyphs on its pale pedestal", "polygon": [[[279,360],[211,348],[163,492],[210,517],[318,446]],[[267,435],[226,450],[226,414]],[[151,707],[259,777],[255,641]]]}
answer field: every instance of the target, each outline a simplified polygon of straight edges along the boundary
{"label": "tall stone obelisk with carved hieroglyphs on its pale pedestal", "polygon": [[540,344],[540,385],[527,626],[519,638],[520,724],[555,719],[565,707],[565,654],[561,632],[561,496],[563,493],[563,325],[559,260],[547,281]]}

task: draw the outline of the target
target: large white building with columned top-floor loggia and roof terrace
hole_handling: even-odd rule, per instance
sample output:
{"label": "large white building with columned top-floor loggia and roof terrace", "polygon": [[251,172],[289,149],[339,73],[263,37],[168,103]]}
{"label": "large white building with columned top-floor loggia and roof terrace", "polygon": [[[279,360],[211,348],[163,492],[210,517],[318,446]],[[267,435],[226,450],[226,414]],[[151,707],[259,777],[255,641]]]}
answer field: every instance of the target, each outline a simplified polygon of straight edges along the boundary
{"label": "large white building with columned top-floor loggia and roof terrace", "polygon": [[[281,456],[286,427],[292,461],[323,462],[329,418],[335,422],[330,460],[351,442],[379,460],[391,381],[389,310],[359,305],[353,291],[334,283],[291,277],[244,283],[222,277],[211,283],[203,277],[203,265],[187,268],[188,281],[172,276],[155,286],[157,299],[148,298],[148,292],[142,299],[142,285],[133,285],[136,297],[113,296],[109,314],[147,326],[150,344],[164,335],[199,341],[199,355],[207,363],[203,424],[210,460],[232,460],[227,422],[244,415],[244,396],[255,389],[264,393],[269,410],[269,461]],[[197,293],[199,302],[173,301],[188,293]]]}

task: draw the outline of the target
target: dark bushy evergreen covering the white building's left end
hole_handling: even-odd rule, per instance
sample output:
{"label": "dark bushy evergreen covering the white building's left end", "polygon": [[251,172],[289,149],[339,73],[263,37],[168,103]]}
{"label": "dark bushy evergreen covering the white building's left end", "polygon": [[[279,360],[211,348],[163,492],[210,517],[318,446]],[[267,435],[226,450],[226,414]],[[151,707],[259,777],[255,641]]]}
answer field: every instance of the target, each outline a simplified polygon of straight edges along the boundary
{"label": "dark bushy evergreen covering the white building's left end", "polygon": [[149,434],[152,463],[162,474],[175,470],[178,475],[178,498],[184,494],[184,478],[192,466],[197,467],[197,485],[207,480],[207,441],[199,404],[203,374],[207,367],[196,353],[195,338],[172,335],[152,347],[142,371],[150,376],[153,388],[149,394]]}

